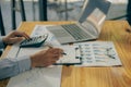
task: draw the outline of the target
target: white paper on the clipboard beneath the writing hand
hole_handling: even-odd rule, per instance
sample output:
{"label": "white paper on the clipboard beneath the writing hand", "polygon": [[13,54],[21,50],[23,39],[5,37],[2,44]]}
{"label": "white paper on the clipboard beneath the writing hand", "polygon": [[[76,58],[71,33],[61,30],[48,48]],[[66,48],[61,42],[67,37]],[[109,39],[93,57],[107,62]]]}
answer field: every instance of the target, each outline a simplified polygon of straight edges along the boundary
{"label": "white paper on the clipboard beneath the writing hand", "polygon": [[[49,47],[44,46],[39,48],[21,48],[20,52],[17,53],[17,57],[23,57],[23,55],[31,55],[37,51],[40,50],[47,50]],[[61,48],[63,50],[62,57],[56,62],[58,65],[62,64],[80,64],[80,48],[79,46],[56,46],[56,48]]]}

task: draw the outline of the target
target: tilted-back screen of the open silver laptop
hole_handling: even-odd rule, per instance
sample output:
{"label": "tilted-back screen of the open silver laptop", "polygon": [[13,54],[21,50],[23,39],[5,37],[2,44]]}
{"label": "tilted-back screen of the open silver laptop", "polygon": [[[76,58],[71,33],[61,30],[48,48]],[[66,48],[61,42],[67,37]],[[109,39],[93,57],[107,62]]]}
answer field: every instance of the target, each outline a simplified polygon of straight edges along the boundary
{"label": "tilted-back screen of the open silver laptop", "polygon": [[82,14],[79,22],[86,27],[86,23],[92,23],[97,33],[100,33],[100,28],[106,20],[110,2],[107,0],[86,0],[84,2]]}

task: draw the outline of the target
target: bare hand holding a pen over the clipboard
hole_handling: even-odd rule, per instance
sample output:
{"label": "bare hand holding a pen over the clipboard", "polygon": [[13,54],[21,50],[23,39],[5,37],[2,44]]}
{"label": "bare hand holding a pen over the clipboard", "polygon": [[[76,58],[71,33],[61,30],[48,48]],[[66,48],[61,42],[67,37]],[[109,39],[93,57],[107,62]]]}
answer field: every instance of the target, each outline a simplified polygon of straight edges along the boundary
{"label": "bare hand holding a pen over the clipboard", "polygon": [[62,52],[63,50],[59,48],[49,48],[46,51],[39,51],[31,55],[32,66],[49,66],[62,57]]}

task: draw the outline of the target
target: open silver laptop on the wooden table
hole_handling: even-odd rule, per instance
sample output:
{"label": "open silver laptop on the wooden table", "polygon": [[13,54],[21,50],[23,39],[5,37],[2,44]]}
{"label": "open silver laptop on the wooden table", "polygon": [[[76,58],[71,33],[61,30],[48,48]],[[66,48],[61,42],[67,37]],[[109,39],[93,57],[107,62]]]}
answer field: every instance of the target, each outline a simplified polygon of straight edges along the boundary
{"label": "open silver laptop on the wooden table", "polygon": [[85,0],[80,20],[72,24],[47,26],[60,44],[97,39],[106,20],[110,2]]}

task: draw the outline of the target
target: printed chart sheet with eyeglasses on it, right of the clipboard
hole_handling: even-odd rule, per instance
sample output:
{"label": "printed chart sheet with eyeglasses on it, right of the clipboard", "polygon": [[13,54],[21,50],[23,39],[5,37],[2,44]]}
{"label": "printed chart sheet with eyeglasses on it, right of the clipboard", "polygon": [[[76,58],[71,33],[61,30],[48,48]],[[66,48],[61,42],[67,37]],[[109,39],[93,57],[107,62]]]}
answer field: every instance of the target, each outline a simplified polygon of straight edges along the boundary
{"label": "printed chart sheet with eyeglasses on it, right of the clipboard", "polygon": [[82,64],[76,66],[122,65],[111,41],[87,41],[75,44],[80,47]]}

